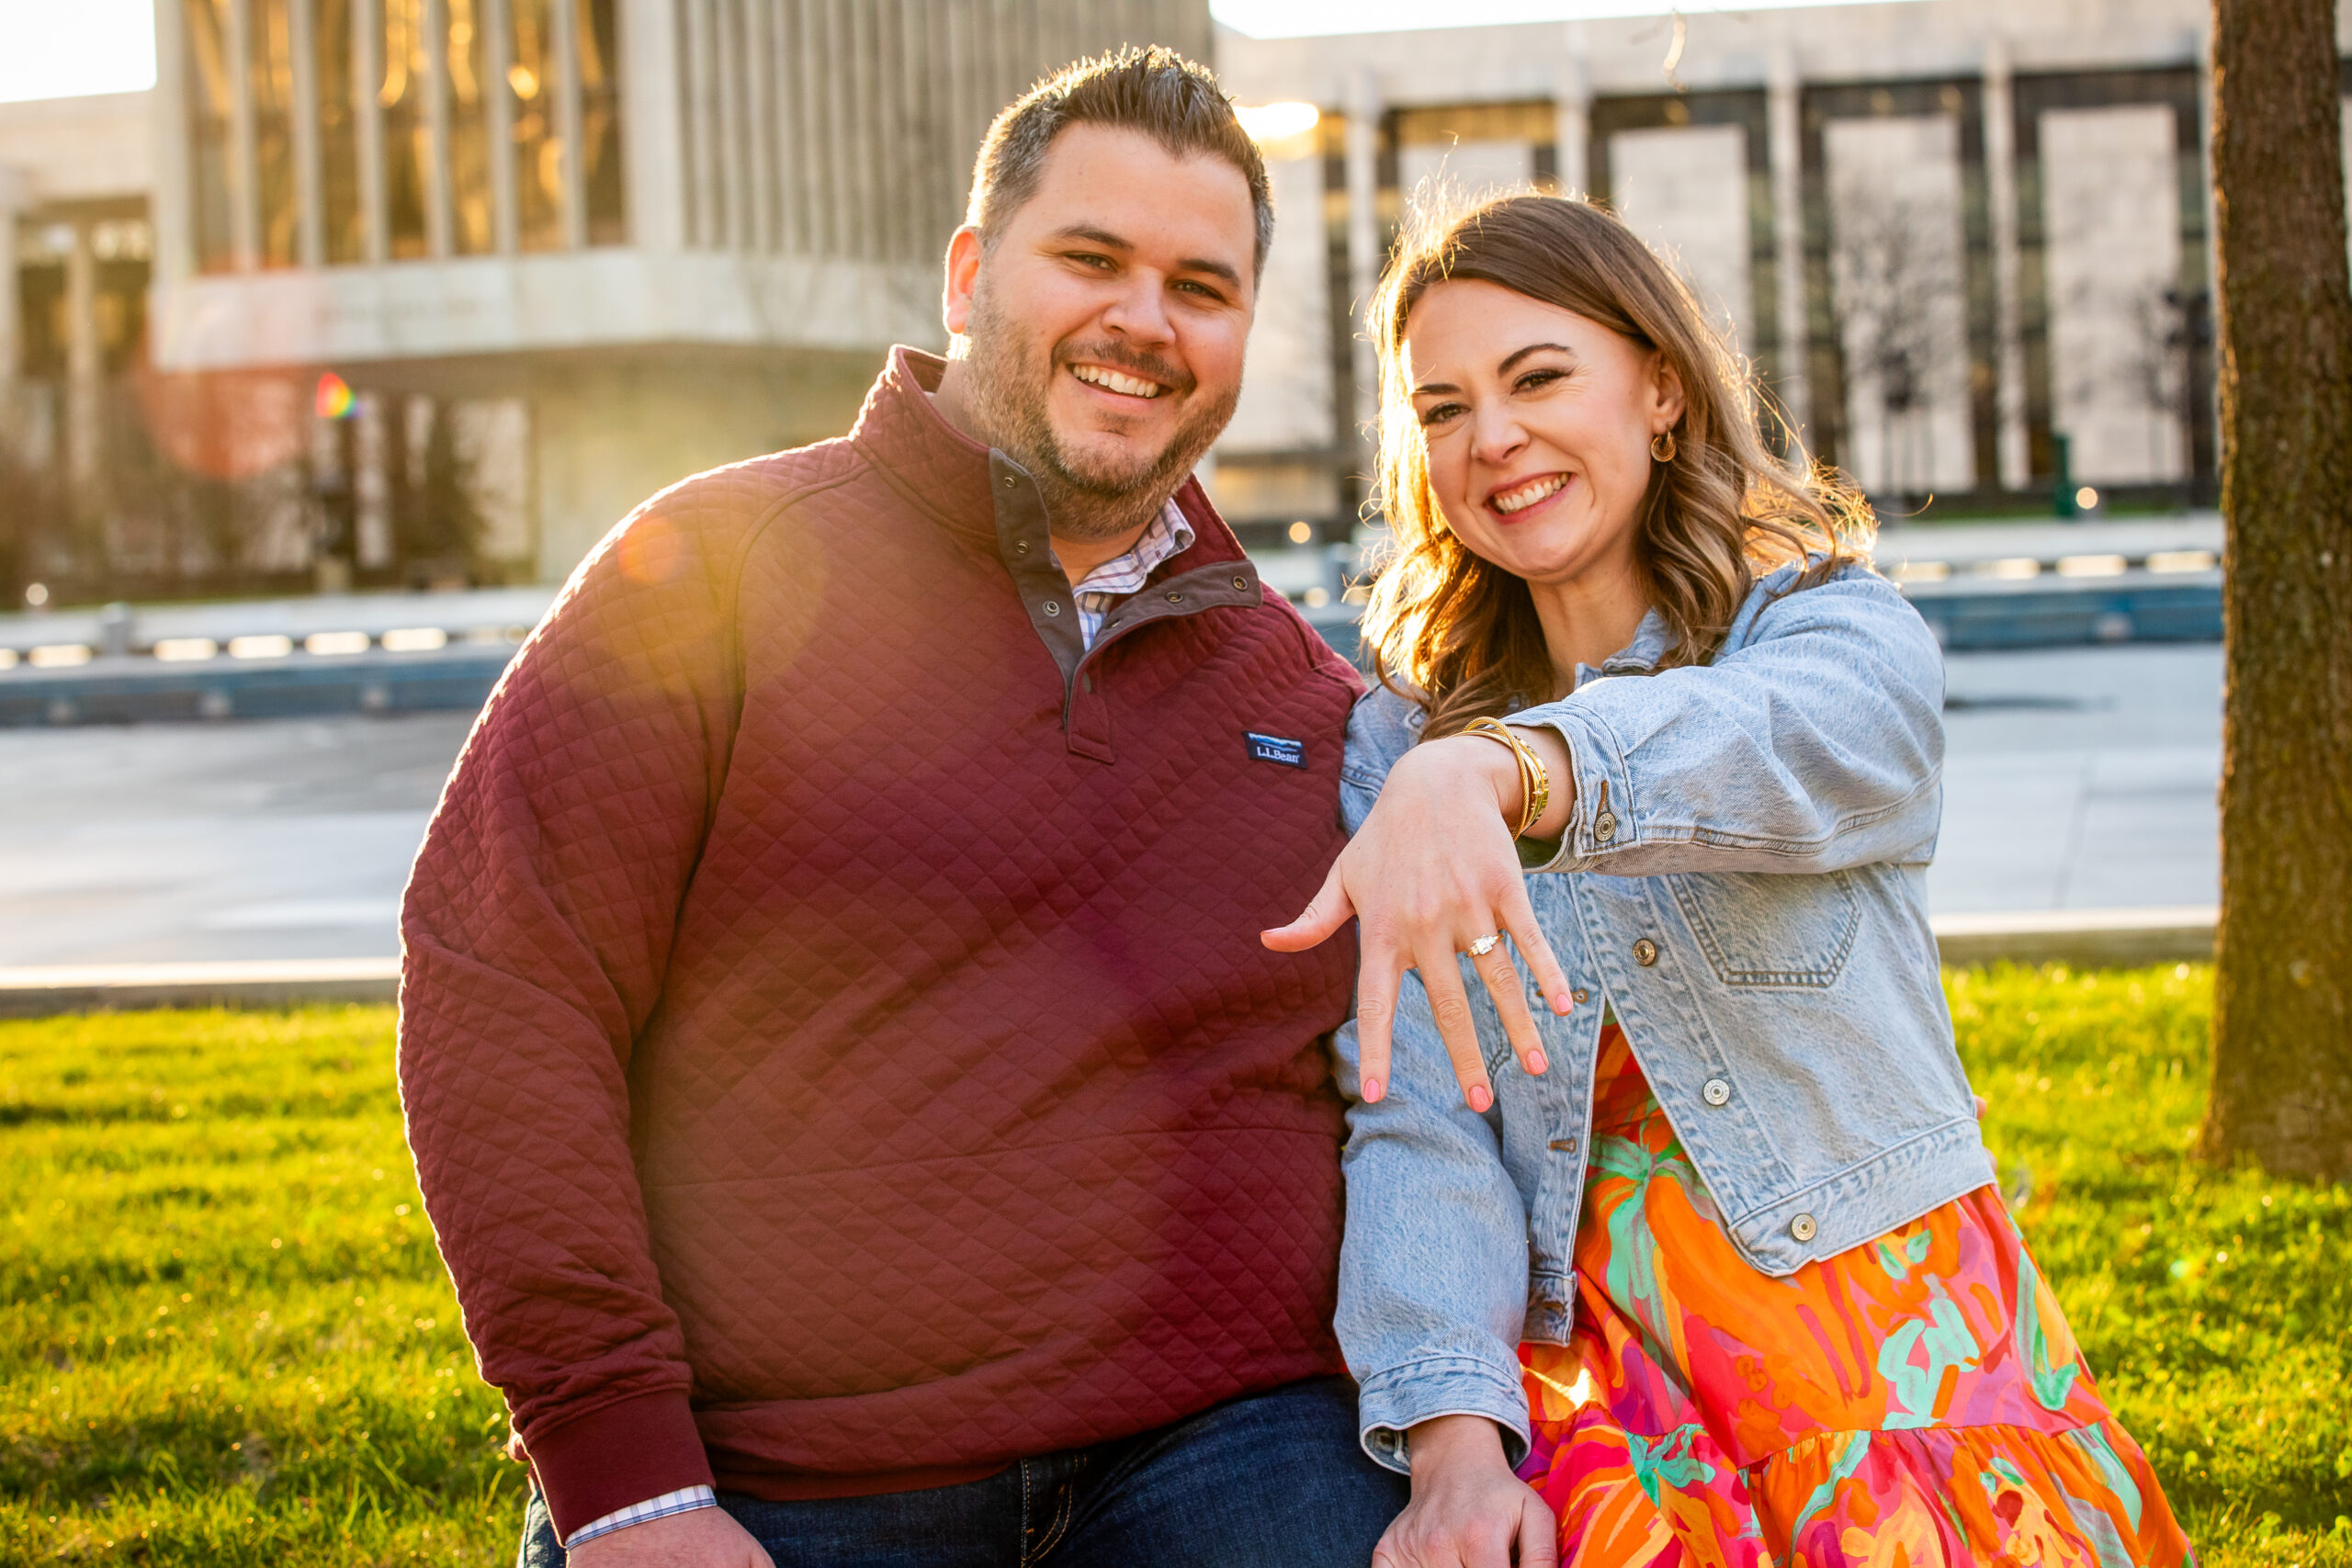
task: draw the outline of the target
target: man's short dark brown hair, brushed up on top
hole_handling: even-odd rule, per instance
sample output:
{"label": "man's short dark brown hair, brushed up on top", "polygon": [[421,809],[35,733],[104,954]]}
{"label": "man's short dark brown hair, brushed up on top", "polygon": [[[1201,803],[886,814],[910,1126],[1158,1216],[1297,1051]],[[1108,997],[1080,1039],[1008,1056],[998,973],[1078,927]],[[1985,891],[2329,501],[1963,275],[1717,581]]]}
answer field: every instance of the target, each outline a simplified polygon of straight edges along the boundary
{"label": "man's short dark brown hair, brushed up on top", "polygon": [[1265,160],[1232,115],[1232,99],[1207,66],[1174,49],[1127,47],[1063,66],[1018,99],[988,127],[981,158],[971,167],[971,202],[964,223],[978,230],[1004,223],[1037,195],[1044,155],[1070,125],[1112,125],[1143,132],[1171,158],[1223,158],[1249,181],[1256,212],[1254,270],[1265,273],[1265,249],[1275,242],[1275,202],[1265,188]]}

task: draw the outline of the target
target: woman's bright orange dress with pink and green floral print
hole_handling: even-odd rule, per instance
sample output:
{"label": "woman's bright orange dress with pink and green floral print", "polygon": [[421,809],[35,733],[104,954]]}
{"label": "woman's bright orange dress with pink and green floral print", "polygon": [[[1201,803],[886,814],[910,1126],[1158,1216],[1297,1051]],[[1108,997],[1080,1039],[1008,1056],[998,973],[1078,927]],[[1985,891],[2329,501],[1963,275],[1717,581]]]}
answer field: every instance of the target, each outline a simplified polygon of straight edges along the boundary
{"label": "woman's bright orange dress with pink and green floral print", "polygon": [[2194,1563],[1992,1187],[1785,1279],[1599,1041],[1569,1345],[1522,1345],[1559,1561]]}

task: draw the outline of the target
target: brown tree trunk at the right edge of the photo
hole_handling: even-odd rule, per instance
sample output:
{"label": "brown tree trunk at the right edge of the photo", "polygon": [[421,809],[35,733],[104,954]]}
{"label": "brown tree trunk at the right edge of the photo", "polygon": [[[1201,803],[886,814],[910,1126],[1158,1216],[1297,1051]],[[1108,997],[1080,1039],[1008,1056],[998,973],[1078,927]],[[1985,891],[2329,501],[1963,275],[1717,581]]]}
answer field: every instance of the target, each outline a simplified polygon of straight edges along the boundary
{"label": "brown tree trunk at the right edge of the photo", "polygon": [[2352,1175],[2352,282],[2333,0],[2213,2],[2220,973],[2204,1150]]}

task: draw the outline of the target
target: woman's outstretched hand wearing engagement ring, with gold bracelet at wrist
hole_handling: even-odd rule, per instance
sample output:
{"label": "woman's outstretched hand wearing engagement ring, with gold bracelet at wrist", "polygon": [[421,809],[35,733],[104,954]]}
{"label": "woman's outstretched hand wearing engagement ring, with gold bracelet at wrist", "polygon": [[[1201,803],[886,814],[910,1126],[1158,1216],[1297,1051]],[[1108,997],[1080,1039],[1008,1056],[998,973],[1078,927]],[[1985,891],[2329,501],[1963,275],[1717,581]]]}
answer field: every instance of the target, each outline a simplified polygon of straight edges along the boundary
{"label": "woman's outstretched hand wearing engagement ring, with gold bracelet at wrist", "polygon": [[[1552,837],[1573,811],[1569,748],[1557,731],[1517,733],[1543,757],[1552,788],[1552,804],[1531,832]],[[1404,971],[1418,969],[1463,1100],[1477,1112],[1494,1105],[1477,1023],[1454,954],[1496,933],[1510,943],[1496,943],[1475,959],[1479,980],[1503,1013],[1503,1032],[1519,1063],[1529,1072],[1545,1070],[1512,947],[1526,959],[1555,1013],[1571,1006],[1569,980],[1526,900],[1519,851],[1510,837],[1517,820],[1519,766],[1508,748],[1479,736],[1425,741],[1390,769],[1371,816],[1341,851],[1305,912],[1261,936],[1275,952],[1305,952],[1350,919],[1359,922],[1355,1030],[1364,1100],[1378,1100],[1388,1091],[1397,992]]]}

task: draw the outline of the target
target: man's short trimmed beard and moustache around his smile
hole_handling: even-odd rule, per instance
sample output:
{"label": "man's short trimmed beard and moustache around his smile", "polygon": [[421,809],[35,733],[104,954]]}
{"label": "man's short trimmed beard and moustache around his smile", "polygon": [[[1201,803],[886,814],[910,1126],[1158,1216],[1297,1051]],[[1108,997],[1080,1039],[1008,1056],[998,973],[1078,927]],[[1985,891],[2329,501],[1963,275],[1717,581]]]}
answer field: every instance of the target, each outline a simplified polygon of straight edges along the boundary
{"label": "man's short trimmed beard and moustache around his smile", "polygon": [[1063,346],[1047,348],[1042,360],[1033,360],[1023,353],[1018,331],[988,306],[985,294],[971,301],[962,348],[981,428],[995,437],[1004,456],[1028,468],[1030,477],[1037,480],[1051,531],[1075,541],[1117,538],[1150,522],[1232,421],[1232,407],[1240,402],[1240,388],[1235,388],[1225,397],[1202,404],[1176,425],[1169,444],[1152,458],[1089,458],[1063,449],[1047,414],[1047,397],[1063,364],[1108,364],[1145,376],[1169,388],[1162,397],[1192,393],[1197,381],[1174,364],[1124,348],[1112,339],[1089,343],[1084,350],[1070,346],[1068,357],[1056,353]]}

